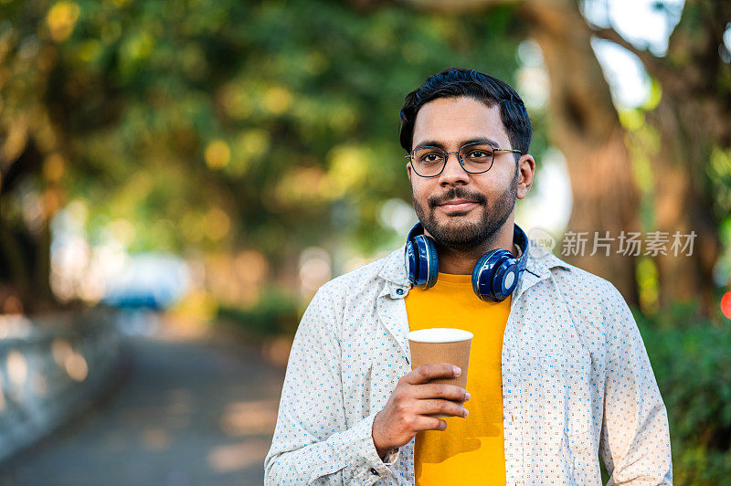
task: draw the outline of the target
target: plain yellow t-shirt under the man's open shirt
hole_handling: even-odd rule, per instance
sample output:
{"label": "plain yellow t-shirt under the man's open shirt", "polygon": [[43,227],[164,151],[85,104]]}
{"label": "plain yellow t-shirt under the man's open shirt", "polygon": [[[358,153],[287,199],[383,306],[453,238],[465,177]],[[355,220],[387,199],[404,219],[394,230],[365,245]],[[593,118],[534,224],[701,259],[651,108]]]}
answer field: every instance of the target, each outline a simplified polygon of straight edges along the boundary
{"label": "plain yellow t-shirt under the man's open shirt", "polygon": [[471,275],[448,273],[440,273],[428,291],[415,287],[408,292],[411,331],[453,327],[474,334],[466,386],[471,398],[464,404],[470,415],[443,417],[446,430],[417,433],[417,486],[505,484],[501,356],[510,300],[481,301],[472,291]]}

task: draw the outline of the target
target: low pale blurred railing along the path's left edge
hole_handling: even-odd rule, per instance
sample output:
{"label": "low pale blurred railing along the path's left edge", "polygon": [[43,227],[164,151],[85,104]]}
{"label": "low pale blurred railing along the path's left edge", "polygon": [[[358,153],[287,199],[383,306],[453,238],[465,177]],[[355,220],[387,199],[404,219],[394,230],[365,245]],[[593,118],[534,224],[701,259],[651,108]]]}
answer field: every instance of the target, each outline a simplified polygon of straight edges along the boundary
{"label": "low pale blurred railing along the path's left edge", "polygon": [[0,461],[89,407],[122,361],[113,310],[0,315]]}

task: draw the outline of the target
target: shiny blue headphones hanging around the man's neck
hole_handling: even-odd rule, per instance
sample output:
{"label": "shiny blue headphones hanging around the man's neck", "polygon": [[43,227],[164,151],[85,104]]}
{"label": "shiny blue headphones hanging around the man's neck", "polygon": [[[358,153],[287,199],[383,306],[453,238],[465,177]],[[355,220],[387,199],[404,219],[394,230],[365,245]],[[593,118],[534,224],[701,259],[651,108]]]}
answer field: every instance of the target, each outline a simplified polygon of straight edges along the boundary
{"label": "shiny blue headphones hanging around the man's neck", "polygon": [[[514,225],[513,242],[521,249],[519,258],[516,259],[506,249],[497,248],[477,260],[472,270],[472,290],[482,301],[503,301],[518,284],[518,277],[528,261],[528,238],[518,225]],[[421,223],[408,232],[406,268],[408,280],[417,287],[423,285],[424,290],[427,290],[437,283],[440,269],[437,248],[434,240],[424,235]]]}

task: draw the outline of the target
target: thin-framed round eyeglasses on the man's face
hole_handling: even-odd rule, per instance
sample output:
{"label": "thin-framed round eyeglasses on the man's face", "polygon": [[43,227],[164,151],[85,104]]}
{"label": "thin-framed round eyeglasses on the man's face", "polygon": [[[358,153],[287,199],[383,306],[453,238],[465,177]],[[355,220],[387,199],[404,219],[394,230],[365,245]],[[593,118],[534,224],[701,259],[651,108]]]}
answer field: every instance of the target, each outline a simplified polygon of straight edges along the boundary
{"label": "thin-framed round eyeglasses on the man's face", "polygon": [[514,149],[500,149],[492,143],[473,142],[462,145],[458,151],[445,152],[439,147],[419,146],[404,158],[411,162],[414,172],[421,177],[436,177],[447,165],[448,153],[457,153],[457,159],[465,172],[482,174],[493,167],[495,152],[523,153]]}

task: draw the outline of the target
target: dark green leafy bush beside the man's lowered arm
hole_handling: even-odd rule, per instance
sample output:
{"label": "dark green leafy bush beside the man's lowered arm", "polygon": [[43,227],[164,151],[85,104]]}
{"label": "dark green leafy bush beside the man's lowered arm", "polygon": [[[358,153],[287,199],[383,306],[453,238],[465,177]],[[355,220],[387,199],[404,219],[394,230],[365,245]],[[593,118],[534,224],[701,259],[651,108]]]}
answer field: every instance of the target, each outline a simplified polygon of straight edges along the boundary
{"label": "dark green leafy bush beside the man's lowered arm", "polygon": [[678,484],[731,476],[731,322],[691,321],[693,306],[638,324],[670,421]]}

